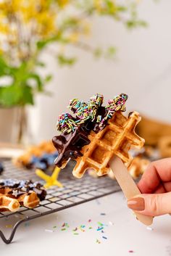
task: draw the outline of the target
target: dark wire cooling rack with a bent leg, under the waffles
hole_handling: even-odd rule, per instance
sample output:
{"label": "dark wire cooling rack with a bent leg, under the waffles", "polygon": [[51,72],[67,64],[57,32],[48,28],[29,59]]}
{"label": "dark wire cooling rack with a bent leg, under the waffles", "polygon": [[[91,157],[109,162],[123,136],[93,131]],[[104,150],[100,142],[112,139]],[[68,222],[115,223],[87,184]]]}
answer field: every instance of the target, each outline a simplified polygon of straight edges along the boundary
{"label": "dark wire cooling rack with a bent leg, under the waffles", "polygon": [[[33,181],[40,181],[40,178],[35,175],[34,170],[19,169],[12,165],[9,160],[3,161],[4,173],[0,178],[17,178],[32,179]],[[80,205],[83,202],[88,202],[99,197],[104,197],[116,191],[120,191],[120,186],[117,181],[113,181],[108,177],[93,178],[85,175],[81,179],[76,179],[72,176],[72,165],[69,165],[59,175],[59,181],[64,185],[63,188],[51,187],[47,190],[46,199],[40,202],[40,205],[34,209],[27,207],[20,207],[17,212],[1,212],[0,226],[4,226],[4,221],[10,220],[12,231],[7,239],[0,229],[1,239],[9,244],[14,238],[14,234],[21,223],[28,220],[33,220],[44,215],[49,215],[53,212],[58,212],[75,205]],[[7,229],[7,228],[6,228]]]}

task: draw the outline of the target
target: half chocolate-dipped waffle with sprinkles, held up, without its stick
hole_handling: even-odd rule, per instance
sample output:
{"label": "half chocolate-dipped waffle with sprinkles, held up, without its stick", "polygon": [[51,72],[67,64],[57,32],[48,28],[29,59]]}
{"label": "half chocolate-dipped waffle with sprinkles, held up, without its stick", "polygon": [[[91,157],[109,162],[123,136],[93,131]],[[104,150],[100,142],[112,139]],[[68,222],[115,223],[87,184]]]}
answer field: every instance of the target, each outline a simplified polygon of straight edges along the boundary
{"label": "half chocolate-dipped waffle with sprinkles, held up, without its stick", "polygon": [[62,133],[52,139],[59,154],[55,164],[64,168],[71,158],[76,160],[73,175],[77,178],[88,168],[96,170],[98,176],[107,174],[114,155],[130,165],[130,147],[140,149],[144,140],[134,131],[141,120],[138,112],[131,112],[128,117],[122,115],[127,99],[126,94],[120,94],[109,100],[106,107],[101,106],[101,94],[92,96],[88,102],[72,99],[69,107],[75,117],[68,113],[60,115],[57,128]]}

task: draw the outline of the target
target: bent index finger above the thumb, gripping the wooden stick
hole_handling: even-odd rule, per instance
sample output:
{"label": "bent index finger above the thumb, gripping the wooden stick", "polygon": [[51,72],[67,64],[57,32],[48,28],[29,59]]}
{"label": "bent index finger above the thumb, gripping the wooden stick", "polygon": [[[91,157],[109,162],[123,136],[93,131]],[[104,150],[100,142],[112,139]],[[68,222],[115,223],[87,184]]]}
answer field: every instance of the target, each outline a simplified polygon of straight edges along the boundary
{"label": "bent index finger above the thumb, gripping the wooden stick", "polygon": [[138,188],[141,193],[149,194],[153,193],[160,183],[167,181],[171,181],[171,158],[151,162],[138,182]]}

